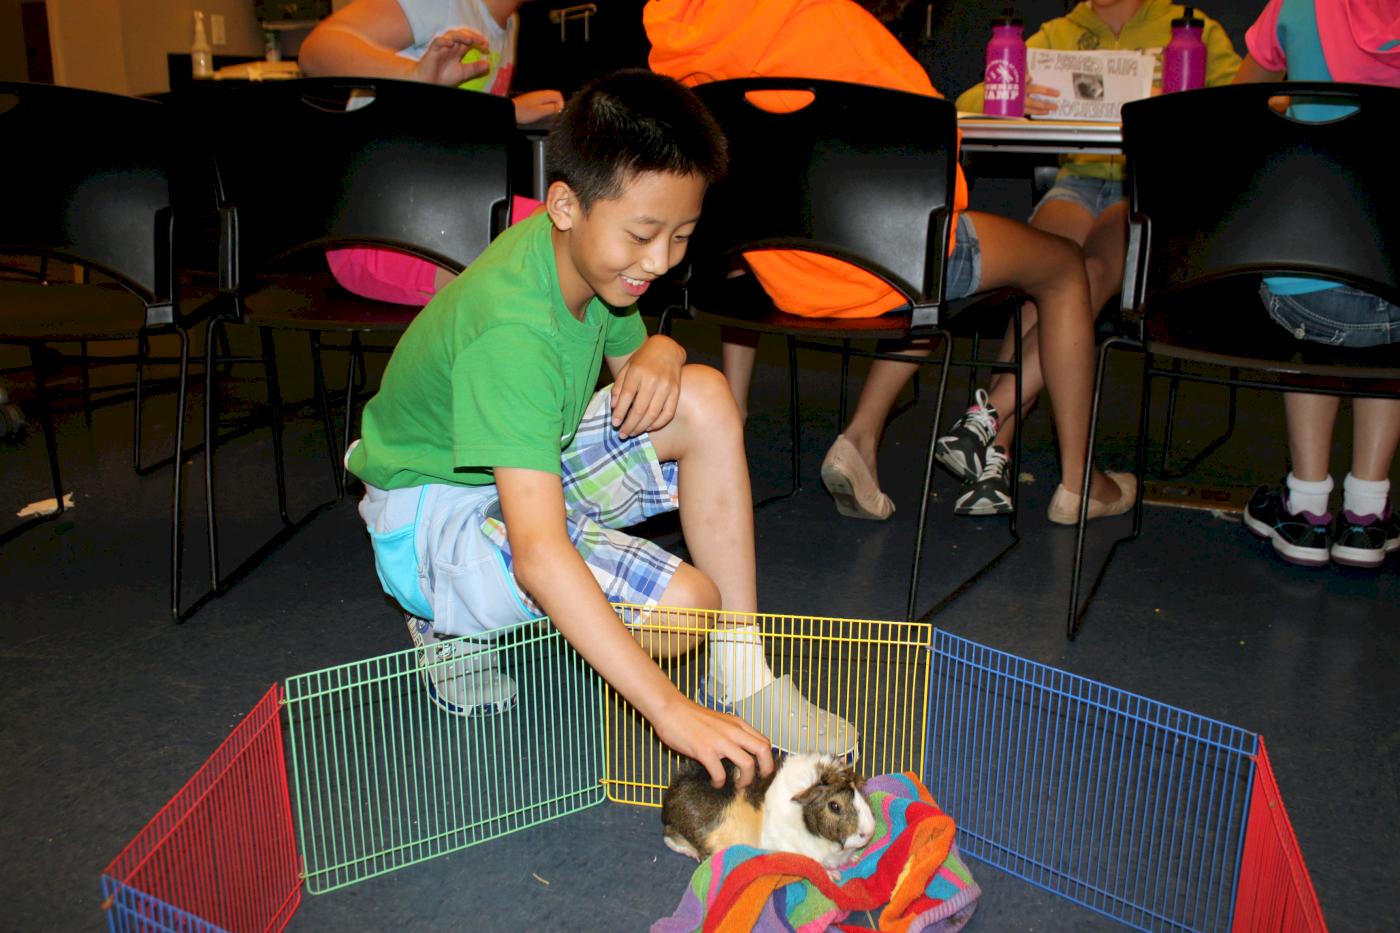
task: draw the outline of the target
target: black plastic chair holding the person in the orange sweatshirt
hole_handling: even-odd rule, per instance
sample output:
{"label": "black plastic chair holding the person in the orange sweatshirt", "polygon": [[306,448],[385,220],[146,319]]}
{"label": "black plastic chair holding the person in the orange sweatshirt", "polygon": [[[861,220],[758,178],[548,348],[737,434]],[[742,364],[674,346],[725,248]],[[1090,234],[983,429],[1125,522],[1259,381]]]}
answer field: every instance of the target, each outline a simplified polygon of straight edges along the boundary
{"label": "black plastic chair holding the person in the orange sweatshirt", "polygon": [[[750,102],[756,91],[788,91],[809,99],[776,112]],[[851,356],[942,364],[930,427],[918,532],[914,538],[907,615],[914,616],[918,567],[934,472],[934,443],[942,420],[948,368],[981,366],[1015,371],[995,360],[953,360],[949,322],[972,305],[1014,305],[1021,359],[1021,293],[1002,289],[949,305],[944,265],[952,231],[958,167],[958,119],[948,101],[864,84],[805,78],[741,78],[703,84],[696,92],[729,140],[729,174],[706,196],[689,256],[682,310],[696,321],[787,338],[792,429],[792,489],[801,490],[801,398],[797,350],[841,353],[840,420],[846,422]],[[808,97],[809,95],[809,97]],[[745,252],[804,249],[850,262],[879,276],[909,305],[876,318],[804,318],[776,308],[752,276],[729,276]],[[722,311],[721,311],[722,310]],[[853,340],[942,340],[942,354],[914,357],[853,347]],[[834,342],[834,343],[833,343]],[[1021,461],[1016,433],[1014,462]],[[1012,483],[1012,499],[1016,483]],[[945,597],[931,615],[991,570],[1019,541],[1015,511],[1011,545]]]}

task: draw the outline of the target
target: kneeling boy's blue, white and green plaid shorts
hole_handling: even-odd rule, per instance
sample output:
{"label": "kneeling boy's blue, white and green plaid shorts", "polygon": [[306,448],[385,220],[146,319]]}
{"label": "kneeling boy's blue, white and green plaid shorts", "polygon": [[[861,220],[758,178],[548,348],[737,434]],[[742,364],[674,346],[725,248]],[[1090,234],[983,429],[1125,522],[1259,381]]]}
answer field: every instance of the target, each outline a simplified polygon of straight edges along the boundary
{"label": "kneeling boy's blue, white and green plaid shorts", "polygon": [[[568,538],[608,600],[657,604],[680,559],[620,528],[678,507],[676,464],[658,461],[647,434],[617,436],[610,389],[584,410],[563,451],[561,479]],[[367,489],[360,514],[385,590],[409,612],[427,608],[435,633],[472,635],[542,615],[515,579],[496,486]],[[389,566],[381,542],[406,525],[414,525],[416,566]]]}

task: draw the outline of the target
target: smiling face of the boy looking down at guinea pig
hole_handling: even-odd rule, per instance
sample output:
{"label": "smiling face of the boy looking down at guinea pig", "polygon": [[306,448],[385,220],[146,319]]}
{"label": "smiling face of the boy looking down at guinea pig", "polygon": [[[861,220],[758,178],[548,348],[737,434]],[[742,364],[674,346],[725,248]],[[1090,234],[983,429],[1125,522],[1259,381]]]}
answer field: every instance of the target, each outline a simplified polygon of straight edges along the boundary
{"label": "smiling face of the boy looking down at guinea pig", "polygon": [[545,203],[559,287],[574,317],[582,319],[595,294],[617,308],[636,303],[680,262],[704,191],[701,175],[640,172],[623,182],[622,195],[598,199],[585,213],[568,185],[550,185]]}

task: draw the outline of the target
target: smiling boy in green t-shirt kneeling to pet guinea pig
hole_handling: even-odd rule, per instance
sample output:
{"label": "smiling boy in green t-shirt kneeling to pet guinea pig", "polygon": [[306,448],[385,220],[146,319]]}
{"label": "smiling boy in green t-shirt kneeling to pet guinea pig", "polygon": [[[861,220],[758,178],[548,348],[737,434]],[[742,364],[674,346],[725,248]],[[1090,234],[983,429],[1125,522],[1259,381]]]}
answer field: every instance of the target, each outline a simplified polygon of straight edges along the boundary
{"label": "smiling boy in green t-shirt kneeling to pet guinea pig", "polygon": [[[717,783],[725,758],[745,785],[755,765],[771,769],[750,723],[777,723],[778,748],[850,752],[854,728],[773,675],[756,626],[708,635],[700,705],[648,650],[683,651],[701,633],[644,647],[609,605],[757,608],[734,396],[675,340],[648,338],[636,305],[680,262],[724,172],[718,126],[671,78],[619,71],[570,102],[546,163],[545,210],[413,321],[350,454],[384,588],[424,658],[456,658],[430,668],[430,695],[455,713],[508,709],[515,685],[472,653],[483,633],[543,614]],[[594,392],[603,360],[615,382]],[[672,509],[693,565],[619,531]],[[479,640],[438,642],[452,635]]]}

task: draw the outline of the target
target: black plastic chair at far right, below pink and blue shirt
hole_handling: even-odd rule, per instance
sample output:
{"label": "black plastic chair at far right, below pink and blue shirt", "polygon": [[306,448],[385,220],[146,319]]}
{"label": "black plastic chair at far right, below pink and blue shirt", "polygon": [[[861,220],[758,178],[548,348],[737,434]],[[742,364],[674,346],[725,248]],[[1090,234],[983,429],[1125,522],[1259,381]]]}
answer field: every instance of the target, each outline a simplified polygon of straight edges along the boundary
{"label": "black plastic chair at far right, below pink and blue shirt", "polygon": [[[1302,122],[1270,106],[1355,108]],[[1331,395],[1400,396],[1400,346],[1365,350],[1294,339],[1259,297],[1264,275],[1302,275],[1351,284],[1400,303],[1400,202],[1394,156],[1378,144],[1400,112],[1400,90],[1319,83],[1245,84],[1168,94],[1123,108],[1133,220],[1123,283],[1128,333],[1099,353],[1093,424],[1109,349],[1144,352],[1137,471],[1147,458],[1154,375],[1222,385]],[[1161,359],[1172,361],[1163,367]],[[1194,373],[1179,361],[1226,370]],[[1088,472],[1085,474],[1085,490]],[[1070,586],[1067,635],[1078,633],[1117,546],[1079,607],[1088,495]]]}

